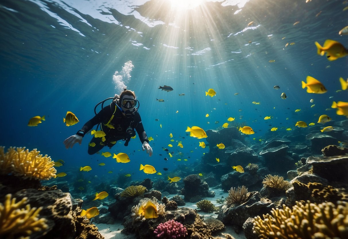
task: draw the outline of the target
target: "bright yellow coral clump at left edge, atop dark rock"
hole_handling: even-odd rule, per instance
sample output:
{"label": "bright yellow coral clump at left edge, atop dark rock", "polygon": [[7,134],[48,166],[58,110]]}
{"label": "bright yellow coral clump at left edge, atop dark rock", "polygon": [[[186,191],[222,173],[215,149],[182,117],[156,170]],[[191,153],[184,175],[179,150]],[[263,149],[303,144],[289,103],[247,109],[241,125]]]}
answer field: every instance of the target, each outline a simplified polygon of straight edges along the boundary
{"label": "bright yellow coral clump at left edge, atop dark rock", "polygon": [[57,170],[53,167],[54,161],[46,154],[42,156],[40,151],[25,150],[25,147],[10,147],[4,153],[5,147],[0,147],[0,173],[13,173],[25,178],[48,180],[56,177]]}

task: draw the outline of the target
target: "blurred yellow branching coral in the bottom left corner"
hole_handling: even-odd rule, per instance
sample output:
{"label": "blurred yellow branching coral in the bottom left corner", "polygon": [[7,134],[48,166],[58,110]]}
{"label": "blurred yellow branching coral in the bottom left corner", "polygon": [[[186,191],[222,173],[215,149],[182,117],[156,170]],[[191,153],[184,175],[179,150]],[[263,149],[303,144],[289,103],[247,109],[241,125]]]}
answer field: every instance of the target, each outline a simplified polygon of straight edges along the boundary
{"label": "blurred yellow branching coral in the bottom left corner", "polygon": [[0,203],[0,238],[29,236],[33,232],[47,229],[46,219],[38,218],[40,208],[31,208],[27,198],[16,203],[16,198],[7,194],[5,203]]}

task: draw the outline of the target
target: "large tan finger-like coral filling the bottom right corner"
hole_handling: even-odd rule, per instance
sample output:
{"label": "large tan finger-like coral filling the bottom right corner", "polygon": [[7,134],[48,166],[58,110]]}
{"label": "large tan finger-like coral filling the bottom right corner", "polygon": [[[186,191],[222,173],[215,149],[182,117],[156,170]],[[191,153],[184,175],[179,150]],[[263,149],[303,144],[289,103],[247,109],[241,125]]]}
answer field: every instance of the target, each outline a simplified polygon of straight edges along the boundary
{"label": "large tan finger-like coral filling the bottom right corner", "polygon": [[272,215],[254,217],[253,233],[259,238],[348,238],[348,203],[319,205],[296,202],[292,209],[272,209]]}

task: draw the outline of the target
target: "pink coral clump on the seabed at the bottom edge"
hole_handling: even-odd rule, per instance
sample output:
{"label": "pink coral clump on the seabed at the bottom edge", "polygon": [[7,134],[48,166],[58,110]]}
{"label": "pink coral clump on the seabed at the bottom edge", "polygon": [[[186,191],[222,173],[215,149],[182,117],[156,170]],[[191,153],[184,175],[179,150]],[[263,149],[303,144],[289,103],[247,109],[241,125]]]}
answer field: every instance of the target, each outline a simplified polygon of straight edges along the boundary
{"label": "pink coral clump on the seabed at the bottom edge", "polygon": [[184,225],[174,220],[160,223],[153,233],[157,235],[156,237],[165,239],[180,239],[187,236]]}

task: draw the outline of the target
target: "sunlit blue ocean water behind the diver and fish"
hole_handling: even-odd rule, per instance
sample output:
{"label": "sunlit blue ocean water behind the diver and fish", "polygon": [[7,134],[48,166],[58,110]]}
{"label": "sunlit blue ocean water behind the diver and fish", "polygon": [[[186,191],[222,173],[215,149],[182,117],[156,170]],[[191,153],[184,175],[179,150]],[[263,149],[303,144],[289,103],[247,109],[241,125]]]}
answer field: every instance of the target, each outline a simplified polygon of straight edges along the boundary
{"label": "sunlit blue ocean water behind the diver and fish", "polygon": [[[64,180],[85,165],[92,167],[85,175],[99,180],[125,174],[166,180],[177,169],[193,168],[203,153],[209,153],[209,147],[198,146],[206,140],[189,137],[187,126],[217,130],[234,117],[233,124],[254,129],[255,134],[247,137],[256,144],[286,135],[289,127],[307,134],[308,129],[294,126],[297,121],[316,123],[322,114],[345,119],[331,105],[347,101],[347,91],[336,91],[339,78],[347,78],[348,58],[328,61],[317,54],[314,42],[323,45],[333,39],[348,46],[347,36],[338,34],[347,25],[348,11],[342,11],[347,1],[214,0],[191,9],[173,2],[181,1],[1,1],[0,145],[37,148],[55,161],[64,160],[58,168],[68,173]],[[64,139],[94,116],[95,105],[120,93],[113,76],[116,71],[121,76],[129,61],[130,77],[122,76],[121,82],[140,101],[145,131],[154,138],[150,142],[154,155],[141,150],[138,136],[128,147],[117,143],[102,150],[127,153],[131,160],[127,164],[88,155],[89,134],[82,145],[65,149]],[[321,81],[327,93],[302,89],[301,81],[308,75]],[[163,85],[174,90],[159,90]],[[216,91],[214,97],[205,96],[209,88]],[[280,98],[282,92],[286,100]],[[301,111],[295,113],[296,109]],[[67,111],[80,122],[65,126]],[[37,115],[45,115],[46,121],[28,127],[29,119]],[[263,120],[265,116],[272,118]],[[271,132],[272,127],[278,130]],[[177,147],[177,141],[184,147]],[[174,152],[168,161],[163,148]],[[98,166],[101,162],[106,166]],[[153,165],[163,175],[145,175],[140,164]]]}

